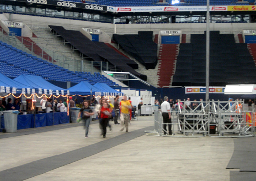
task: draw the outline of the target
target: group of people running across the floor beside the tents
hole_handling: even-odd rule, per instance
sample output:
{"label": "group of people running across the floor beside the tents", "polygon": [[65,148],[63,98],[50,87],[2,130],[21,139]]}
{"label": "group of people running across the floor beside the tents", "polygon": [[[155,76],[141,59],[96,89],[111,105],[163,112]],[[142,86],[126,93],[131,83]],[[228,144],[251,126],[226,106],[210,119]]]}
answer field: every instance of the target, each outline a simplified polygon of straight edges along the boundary
{"label": "group of people running across the floor beside the tents", "polygon": [[[89,101],[83,102],[83,107],[80,109],[77,121],[83,121],[84,122],[84,128],[85,128],[85,138],[88,138],[88,132],[89,132],[89,125],[90,125],[90,117],[94,114],[97,114],[99,118],[99,127],[101,129],[101,135],[103,138],[106,138],[107,133],[107,127],[109,127],[109,130],[111,131],[111,125],[109,124],[110,119],[114,119],[114,125],[121,125],[120,131],[123,131],[125,129],[126,132],[128,132],[129,129],[129,120],[131,118],[131,100],[127,100],[127,96],[124,95],[123,99],[119,102],[119,95],[117,95],[114,98],[114,103],[112,104],[110,101],[108,101],[106,98],[102,97],[99,99],[99,102],[95,105],[95,111],[93,111],[89,107]],[[92,102],[94,102],[92,100]],[[120,113],[120,123],[118,123],[118,115]]]}

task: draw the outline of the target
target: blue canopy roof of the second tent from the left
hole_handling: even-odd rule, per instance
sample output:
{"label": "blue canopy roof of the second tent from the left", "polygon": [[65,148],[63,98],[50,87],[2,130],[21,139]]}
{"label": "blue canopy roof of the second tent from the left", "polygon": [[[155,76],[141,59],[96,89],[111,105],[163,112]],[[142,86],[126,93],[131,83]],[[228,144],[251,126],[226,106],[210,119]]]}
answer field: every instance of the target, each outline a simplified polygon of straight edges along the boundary
{"label": "blue canopy roof of the second tent from the left", "polygon": [[67,94],[67,90],[65,90],[64,88],[55,86],[54,84],[43,79],[41,76],[22,74],[22,75],[16,77],[14,80],[16,80],[17,82],[20,82],[22,84],[25,84],[29,87],[36,88],[39,93],[41,92],[41,91],[39,91],[41,89],[42,93],[45,93],[45,94],[50,94],[50,91],[52,91],[52,94],[57,94],[57,95],[58,94],[64,94],[64,95]]}

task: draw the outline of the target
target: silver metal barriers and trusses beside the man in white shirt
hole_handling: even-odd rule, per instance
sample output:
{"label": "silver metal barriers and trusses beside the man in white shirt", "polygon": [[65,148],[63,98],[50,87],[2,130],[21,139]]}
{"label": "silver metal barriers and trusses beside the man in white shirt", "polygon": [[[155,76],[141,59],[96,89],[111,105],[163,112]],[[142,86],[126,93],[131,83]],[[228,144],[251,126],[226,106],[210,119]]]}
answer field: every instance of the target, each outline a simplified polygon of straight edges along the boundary
{"label": "silver metal barriers and trusses beside the man in white shirt", "polygon": [[[198,102],[191,102],[198,103]],[[155,130],[145,131],[150,136],[165,137],[251,137],[255,135],[256,112],[243,111],[241,101],[199,102],[195,109],[177,104],[170,111],[172,123],[163,123],[161,110],[155,111]],[[163,125],[172,125],[172,134],[164,134]],[[169,131],[169,130],[168,130]]]}

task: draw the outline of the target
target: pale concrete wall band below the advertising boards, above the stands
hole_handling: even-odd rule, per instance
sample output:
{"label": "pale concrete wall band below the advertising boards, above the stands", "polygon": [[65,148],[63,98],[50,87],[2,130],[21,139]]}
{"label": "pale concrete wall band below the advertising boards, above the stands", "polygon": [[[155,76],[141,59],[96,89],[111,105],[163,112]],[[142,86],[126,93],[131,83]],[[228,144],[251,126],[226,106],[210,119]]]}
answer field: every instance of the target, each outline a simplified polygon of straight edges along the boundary
{"label": "pale concrete wall band below the advertising boards, above the stands", "polygon": [[[9,15],[6,14],[8,17]],[[206,23],[184,23],[184,24],[110,24],[91,21],[57,19],[52,17],[38,17],[28,15],[12,14],[12,21],[22,21],[32,27],[48,27],[48,25],[63,26],[69,30],[80,31],[81,27],[97,28],[104,31],[110,37],[117,34],[138,34],[138,31],[153,31],[158,34],[163,29],[181,29],[182,34],[198,34],[206,30]],[[255,23],[211,23],[210,30],[218,30],[221,33],[238,34],[243,29],[254,29]]]}

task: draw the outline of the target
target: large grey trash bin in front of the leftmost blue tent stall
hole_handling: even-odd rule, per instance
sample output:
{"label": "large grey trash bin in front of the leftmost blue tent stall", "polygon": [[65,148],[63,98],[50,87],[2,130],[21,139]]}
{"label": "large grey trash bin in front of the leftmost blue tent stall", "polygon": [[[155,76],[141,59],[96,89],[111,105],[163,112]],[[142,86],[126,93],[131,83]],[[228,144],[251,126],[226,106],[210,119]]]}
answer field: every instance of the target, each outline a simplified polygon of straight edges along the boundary
{"label": "large grey trash bin in front of the leftmost blue tent stall", "polygon": [[17,116],[19,111],[9,110],[3,111],[4,113],[4,127],[7,133],[16,133],[17,132]]}

